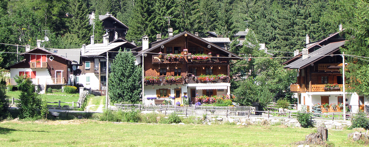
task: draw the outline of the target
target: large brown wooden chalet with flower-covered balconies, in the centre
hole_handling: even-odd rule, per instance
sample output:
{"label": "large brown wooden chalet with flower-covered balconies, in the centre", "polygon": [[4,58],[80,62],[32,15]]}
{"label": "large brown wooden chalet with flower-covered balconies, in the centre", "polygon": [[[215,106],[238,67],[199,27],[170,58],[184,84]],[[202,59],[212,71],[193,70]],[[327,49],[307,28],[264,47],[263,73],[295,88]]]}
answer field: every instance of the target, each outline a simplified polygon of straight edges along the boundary
{"label": "large brown wooden chalet with flower-covered balconies, in the centre", "polygon": [[[163,100],[183,104],[182,96],[195,103],[196,96],[230,94],[229,57],[242,60],[190,32],[173,36],[172,28],[168,38],[161,39],[158,35],[157,41],[152,43],[149,43],[148,36],[142,36],[142,46],[132,51],[138,52],[136,62],[144,69],[144,104]],[[221,78],[211,78],[216,75]]]}

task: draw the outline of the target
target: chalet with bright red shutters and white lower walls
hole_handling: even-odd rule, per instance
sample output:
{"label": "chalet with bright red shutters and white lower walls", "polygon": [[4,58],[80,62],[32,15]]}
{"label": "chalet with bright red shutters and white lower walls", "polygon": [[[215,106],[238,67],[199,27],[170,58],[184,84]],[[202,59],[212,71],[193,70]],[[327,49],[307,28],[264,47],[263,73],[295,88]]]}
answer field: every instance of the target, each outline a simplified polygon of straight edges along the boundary
{"label": "chalet with bright red shutters and white lower walls", "polygon": [[27,75],[32,78],[35,85],[41,87],[41,93],[46,88],[52,87],[60,89],[63,85],[70,85],[70,75],[72,75],[72,65],[80,63],[79,50],[62,50],[53,49],[51,51],[41,48],[41,40],[37,40],[37,46],[30,49],[26,46],[26,52],[20,54],[24,56],[24,60],[11,65],[7,69],[10,70],[10,79],[7,79],[8,85],[17,85],[15,83],[15,75]]}

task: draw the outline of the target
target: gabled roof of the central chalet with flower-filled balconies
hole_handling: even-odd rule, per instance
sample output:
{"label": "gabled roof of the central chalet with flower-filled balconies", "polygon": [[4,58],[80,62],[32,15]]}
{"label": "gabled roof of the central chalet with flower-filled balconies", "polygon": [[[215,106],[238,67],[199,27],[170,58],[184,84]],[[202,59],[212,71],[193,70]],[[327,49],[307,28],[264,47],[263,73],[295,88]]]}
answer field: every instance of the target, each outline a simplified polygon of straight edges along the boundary
{"label": "gabled roof of the central chalet with flower-filled balconies", "polygon": [[[168,42],[170,42],[170,41],[172,41],[172,40],[175,40],[176,38],[178,38],[178,37],[180,37],[180,36],[182,36],[182,35],[184,35],[184,34],[188,34],[189,36],[192,36],[192,37],[194,37],[194,38],[196,38],[196,39],[198,39],[198,40],[200,40],[200,41],[202,41],[202,42],[206,42],[206,43],[208,43],[208,44],[210,44],[211,46],[214,46],[215,48],[217,48],[217,49],[219,49],[219,50],[222,50],[222,51],[224,51],[224,52],[226,52],[226,53],[228,53],[228,54],[231,54],[233,57],[238,57],[238,59],[240,59],[240,60],[242,60],[243,58],[242,57],[240,57],[239,55],[236,55],[236,54],[234,54],[234,53],[232,53],[232,52],[230,52],[230,51],[228,51],[228,50],[225,50],[225,49],[223,49],[223,48],[221,48],[221,47],[219,47],[219,46],[217,46],[217,45],[215,45],[215,44],[213,44],[213,43],[211,43],[211,42],[208,42],[208,41],[206,41],[206,40],[204,40],[203,38],[201,38],[201,37],[199,37],[199,36],[196,36],[196,35],[194,35],[194,34],[192,34],[192,33],[190,33],[190,32],[187,32],[187,31],[184,31],[184,32],[182,32],[182,33],[179,33],[179,34],[177,34],[177,35],[174,35],[172,38],[166,38],[166,39],[162,39],[162,40],[158,40],[158,41],[156,41],[156,42],[152,42],[152,43],[149,43],[149,49],[147,49],[147,50],[145,50],[145,52],[150,52],[150,51],[152,51],[152,50],[154,50],[154,49],[156,49],[156,48],[158,48],[158,47],[160,47],[161,45],[163,45],[163,44],[166,44],[166,43],[168,43]],[[150,46],[151,45],[151,46]],[[139,50],[139,49],[141,49],[142,50],[142,46],[139,46],[139,47],[136,47],[136,48],[134,48],[134,49],[132,49],[132,50]],[[140,51],[141,51],[140,50]],[[136,55],[136,57],[139,57],[140,55],[142,55],[142,53],[139,53],[139,54],[137,54]]]}

